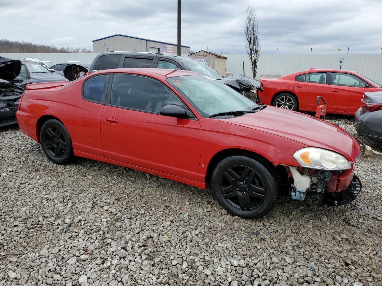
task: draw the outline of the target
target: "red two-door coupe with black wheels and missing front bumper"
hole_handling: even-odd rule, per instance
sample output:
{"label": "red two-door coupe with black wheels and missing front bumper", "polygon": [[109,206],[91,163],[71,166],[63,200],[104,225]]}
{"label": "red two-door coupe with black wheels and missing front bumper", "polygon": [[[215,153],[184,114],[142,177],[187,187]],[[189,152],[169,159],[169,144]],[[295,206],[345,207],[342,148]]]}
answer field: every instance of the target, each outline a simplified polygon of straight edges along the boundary
{"label": "red two-door coupe with black wheels and missing front bumper", "polygon": [[358,142],[312,116],[256,104],[209,76],[110,69],[74,82],[31,84],[20,129],[57,164],[73,156],[206,189],[228,212],[255,219],[279,194],[346,204],[361,190]]}

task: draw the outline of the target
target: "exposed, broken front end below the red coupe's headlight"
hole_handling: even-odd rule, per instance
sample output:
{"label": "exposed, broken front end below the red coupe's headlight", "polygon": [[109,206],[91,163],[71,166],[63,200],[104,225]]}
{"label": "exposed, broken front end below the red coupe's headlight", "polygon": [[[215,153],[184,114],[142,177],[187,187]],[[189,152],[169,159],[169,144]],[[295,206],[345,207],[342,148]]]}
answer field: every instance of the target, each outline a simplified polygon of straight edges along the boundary
{"label": "exposed, broken front end below the red coupe's headlight", "polygon": [[320,203],[340,206],[353,201],[362,189],[359,178],[352,168],[343,172],[311,170],[288,166],[292,199],[302,201],[310,193],[320,194]]}

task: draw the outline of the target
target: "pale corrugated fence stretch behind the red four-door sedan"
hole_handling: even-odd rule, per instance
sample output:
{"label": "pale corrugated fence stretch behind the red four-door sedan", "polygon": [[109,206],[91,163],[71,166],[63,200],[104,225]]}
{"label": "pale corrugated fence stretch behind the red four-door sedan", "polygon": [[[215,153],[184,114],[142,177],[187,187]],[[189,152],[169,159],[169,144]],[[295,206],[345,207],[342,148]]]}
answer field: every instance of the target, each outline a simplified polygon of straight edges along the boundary
{"label": "pale corrugated fence stretch behind the red four-door sedan", "polygon": [[[248,55],[225,54],[227,72],[252,77]],[[343,58],[342,69],[357,71],[375,82],[382,84],[382,55],[261,55],[257,63],[257,75],[281,74],[285,76],[293,72],[316,69],[339,69],[338,63]]]}

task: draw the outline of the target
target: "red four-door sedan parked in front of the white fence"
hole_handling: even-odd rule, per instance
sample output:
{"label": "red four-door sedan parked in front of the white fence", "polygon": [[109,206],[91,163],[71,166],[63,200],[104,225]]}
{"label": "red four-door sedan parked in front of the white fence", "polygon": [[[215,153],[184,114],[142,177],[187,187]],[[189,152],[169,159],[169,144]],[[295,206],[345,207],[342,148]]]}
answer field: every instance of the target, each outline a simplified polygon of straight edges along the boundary
{"label": "red four-door sedan parked in front of the white fence", "polygon": [[365,92],[382,90],[379,84],[358,72],[310,69],[278,79],[260,79],[264,91],[259,91],[262,103],[290,110],[315,111],[317,96],[327,103],[328,113],[354,115],[361,107]]}

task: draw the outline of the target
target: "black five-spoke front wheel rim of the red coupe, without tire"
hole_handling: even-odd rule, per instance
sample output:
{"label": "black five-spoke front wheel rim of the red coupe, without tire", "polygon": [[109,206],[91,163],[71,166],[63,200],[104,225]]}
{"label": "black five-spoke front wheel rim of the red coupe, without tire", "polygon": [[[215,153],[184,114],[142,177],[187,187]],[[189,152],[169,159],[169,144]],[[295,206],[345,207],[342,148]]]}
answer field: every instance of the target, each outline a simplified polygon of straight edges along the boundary
{"label": "black five-spoke front wheel rim of the red coupe, without tire", "polygon": [[254,210],[265,199],[262,178],[256,171],[243,165],[231,166],[223,172],[220,192],[228,204],[241,211]]}

